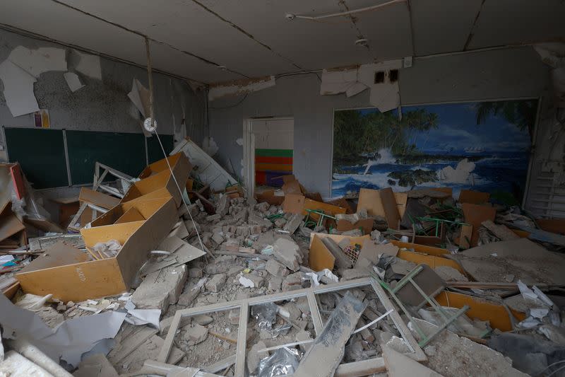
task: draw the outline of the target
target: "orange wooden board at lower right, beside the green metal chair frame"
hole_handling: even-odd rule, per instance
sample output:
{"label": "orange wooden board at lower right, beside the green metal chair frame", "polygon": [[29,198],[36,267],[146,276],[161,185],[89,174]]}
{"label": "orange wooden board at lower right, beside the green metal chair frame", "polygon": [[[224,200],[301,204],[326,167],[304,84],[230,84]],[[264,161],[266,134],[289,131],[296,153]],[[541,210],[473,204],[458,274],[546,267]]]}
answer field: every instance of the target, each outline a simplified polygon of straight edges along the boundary
{"label": "orange wooden board at lower right, beside the green metal chair frame", "polygon": [[[508,312],[504,306],[468,296],[466,294],[458,294],[455,292],[443,291],[436,296],[436,301],[441,306],[449,306],[451,308],[463,308],[468,305],[470,309],[465,312],[470,318],[478,320],[488,320],[491,327],[501,331],[511,331],[512,324]],[[512,314],[518,321],[525,319],[525,313],[510,309]]]}

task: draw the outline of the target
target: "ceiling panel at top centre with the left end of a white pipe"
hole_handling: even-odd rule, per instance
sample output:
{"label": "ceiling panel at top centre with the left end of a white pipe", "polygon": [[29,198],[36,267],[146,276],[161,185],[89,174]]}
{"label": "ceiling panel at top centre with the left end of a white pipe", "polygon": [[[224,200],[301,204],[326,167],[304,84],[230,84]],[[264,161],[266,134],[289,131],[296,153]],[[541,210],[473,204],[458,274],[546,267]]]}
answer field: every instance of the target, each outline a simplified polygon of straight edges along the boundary
{"label": "ceiling panel at top centre with the left end of a white pipe", "polygon": [[287,13],[319,16],[341,12],[343,8],[338,6],[337,0],[249,0],[246,1],[248,11],[242,11],[242,5],[237,1],[204,0],[203,4],[302,69],[330,68],[372,60],[367,49],[355,45],[357,32],[343,17],[323,22],[297,18],[289,21],[285,18]]}

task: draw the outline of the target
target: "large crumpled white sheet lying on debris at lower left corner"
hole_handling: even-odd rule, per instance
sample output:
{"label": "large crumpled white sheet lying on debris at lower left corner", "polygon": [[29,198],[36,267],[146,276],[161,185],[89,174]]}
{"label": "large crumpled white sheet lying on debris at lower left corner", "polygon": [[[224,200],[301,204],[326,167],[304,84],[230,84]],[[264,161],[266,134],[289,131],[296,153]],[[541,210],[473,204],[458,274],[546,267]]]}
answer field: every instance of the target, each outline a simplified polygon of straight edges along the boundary
{"label": "large crumpled white sheet lying on debris at lower left corner", "polygon": [[18,308],[4,295],[0,295],[0,323],[8,339],[25,338],[55,361],[63,359],[76,366],[81,355],[90,351],[101,340],[113,339],[126,313],[105,313],[72,318],[57,329],[47,327],[31,311]]}

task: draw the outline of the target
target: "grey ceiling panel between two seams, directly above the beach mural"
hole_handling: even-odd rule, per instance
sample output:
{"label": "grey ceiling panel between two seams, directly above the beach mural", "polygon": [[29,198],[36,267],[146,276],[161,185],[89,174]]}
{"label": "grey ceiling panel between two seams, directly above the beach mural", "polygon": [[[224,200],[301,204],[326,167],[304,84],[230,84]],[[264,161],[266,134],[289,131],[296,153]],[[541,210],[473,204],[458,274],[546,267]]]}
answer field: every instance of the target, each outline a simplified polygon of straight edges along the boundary
{"label": "grey ceiling panel between two seams, directly above the beach mural", "polygon": [[411,0],[416,55],[463,50],[481,4],[482,0]]}

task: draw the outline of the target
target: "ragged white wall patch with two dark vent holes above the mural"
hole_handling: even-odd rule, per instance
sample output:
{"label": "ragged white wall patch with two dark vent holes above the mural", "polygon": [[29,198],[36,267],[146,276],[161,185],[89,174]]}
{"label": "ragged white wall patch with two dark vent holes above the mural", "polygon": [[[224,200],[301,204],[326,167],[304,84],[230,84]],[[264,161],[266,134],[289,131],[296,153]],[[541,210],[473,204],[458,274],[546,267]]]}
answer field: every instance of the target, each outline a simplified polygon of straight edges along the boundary
{"label": "ragged white wall patch with two dark vent holes above the mural", "polygon": [[[355,69],[323,71],[321,95],[345,93],[347,97],[357,95],[369,88],[369,102],[381,112],[393,110],[400,105],[398,70],[402,60],[390,60],[374,64],[363,64]],[[392,72],[392,73],[391,73]]]}

